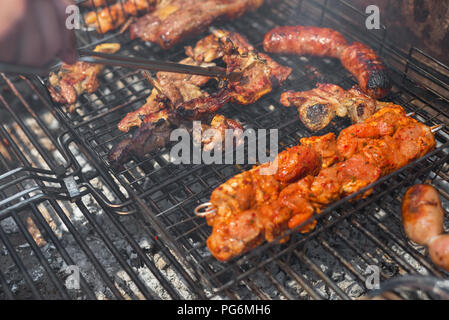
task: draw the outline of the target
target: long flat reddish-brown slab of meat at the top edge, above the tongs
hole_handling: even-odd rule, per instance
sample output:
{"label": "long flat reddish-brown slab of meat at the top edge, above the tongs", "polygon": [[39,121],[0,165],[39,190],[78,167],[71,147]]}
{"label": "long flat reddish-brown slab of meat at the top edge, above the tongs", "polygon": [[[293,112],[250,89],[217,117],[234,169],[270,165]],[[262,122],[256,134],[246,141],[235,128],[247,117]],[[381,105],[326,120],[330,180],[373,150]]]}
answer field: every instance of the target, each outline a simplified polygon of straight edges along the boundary
{"label": "long flat reddish-brown slab of meat at the top edge, above the tongs", "polygon": [[168,0],[131,25],[131,38],[141,38],[168,49],[200,34],[216,20],[231,20],[255,10],[264,0]]}

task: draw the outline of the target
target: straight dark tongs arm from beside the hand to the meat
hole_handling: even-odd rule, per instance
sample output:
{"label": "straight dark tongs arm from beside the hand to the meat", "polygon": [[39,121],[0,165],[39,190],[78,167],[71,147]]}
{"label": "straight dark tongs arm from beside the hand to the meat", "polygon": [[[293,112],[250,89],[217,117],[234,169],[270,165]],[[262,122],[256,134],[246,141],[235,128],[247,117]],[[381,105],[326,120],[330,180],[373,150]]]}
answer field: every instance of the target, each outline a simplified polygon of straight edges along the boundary
{"label": "straight dark tongs arm from beside the hand to the meat", "polygon": [[229,79],[230,81],[236,81],[241,77],[241,73],[239,72],[228,73],[225,68],[220,67],[198,67],[169,61],[157,61],[136,57],[124,57],[117,54],[102,53],[87,50],[80,50],[79,54],[81,55],[81,57],[79,58],[80,61],[85,61],[89,63],[120,66],[132,69],[144,69],[151,71],[164,71],[164,72],[201,75],[208,77],[217,77],[222,79]]}

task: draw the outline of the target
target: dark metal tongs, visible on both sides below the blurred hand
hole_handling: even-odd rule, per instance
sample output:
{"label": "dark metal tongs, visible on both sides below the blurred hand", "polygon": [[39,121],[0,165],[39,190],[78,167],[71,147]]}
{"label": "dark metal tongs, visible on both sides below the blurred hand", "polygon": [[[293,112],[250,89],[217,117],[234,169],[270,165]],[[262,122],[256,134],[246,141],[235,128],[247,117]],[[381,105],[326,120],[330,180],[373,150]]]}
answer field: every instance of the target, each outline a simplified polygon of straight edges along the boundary
{"label": "dark metal tongs, visible on both sides below the blurred hand", "polygon": [[[227,72],[225,68],[221,67],[191,66],[174,62],[148,60],[135,57],[125,57],[118,54],[102,53],[88,50],[79,50],[78,53],[80,55],[78,61],[84,61],[94,64],[118,66],[130,69],[142,69],[151,71],[164,71],[164,72],[208,76],[219,79],[226,79],[231,82],[237,81],[242,77],[241,72]],[[36,68],[36,67],[0,63],[0,72],[17,73],[23,75],[46,76],[50,72],[50,68],[46,67]]]}

